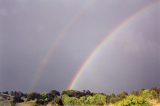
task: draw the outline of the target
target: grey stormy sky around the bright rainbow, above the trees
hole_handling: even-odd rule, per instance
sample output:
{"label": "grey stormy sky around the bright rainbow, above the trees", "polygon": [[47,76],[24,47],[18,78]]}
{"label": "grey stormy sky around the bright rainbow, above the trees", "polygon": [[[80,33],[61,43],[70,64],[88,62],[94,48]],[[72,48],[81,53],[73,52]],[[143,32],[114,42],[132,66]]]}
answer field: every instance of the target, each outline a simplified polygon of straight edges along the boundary
{"label": "grey stormy sky around the bright rainbow, above the trees", "polygon": [[[154,1],[0,0],[0,90],[66,89],[108,33]],[[159,19],[157,2],[106,42],[74,89],[160,86]]]}

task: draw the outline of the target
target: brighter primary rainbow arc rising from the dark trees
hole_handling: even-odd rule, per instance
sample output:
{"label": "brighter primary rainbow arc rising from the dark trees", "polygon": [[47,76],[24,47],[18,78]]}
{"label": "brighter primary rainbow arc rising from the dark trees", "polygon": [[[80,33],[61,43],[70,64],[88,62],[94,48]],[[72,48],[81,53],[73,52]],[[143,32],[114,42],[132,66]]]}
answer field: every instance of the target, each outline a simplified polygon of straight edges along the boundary
{"label": "brighter primary rainbow arc rising from the dark trees", "polygon": [[85,61],[82,63],[82,65],[79,67],[77,73],[75,74],[73,80],[68,86],[68,89],[74,89],[76,86],[77,81],[80,79],[82,73],[84,73],[84,70],[87,68],[89,64],[94,61],[96,56],[100,53],[100,51],[106,46],[106,42],[111,41],[114,39],[116,34],[121,31],[125,26],[127,26],[130,22],[135,20],[138,16],[146,12],[148,9],[152,8],[154,4],[158,3],[159,0],[155,0],[154,2],[142,7],[140,10],[138,10],[136,13],[132,14],[131,16],[127,17],[124,21],[122,21],[120,24],[118,24],[109,34],[106,35],[106,37],[93,49],[93,51],[90,53],[90,55],[85,59]]}

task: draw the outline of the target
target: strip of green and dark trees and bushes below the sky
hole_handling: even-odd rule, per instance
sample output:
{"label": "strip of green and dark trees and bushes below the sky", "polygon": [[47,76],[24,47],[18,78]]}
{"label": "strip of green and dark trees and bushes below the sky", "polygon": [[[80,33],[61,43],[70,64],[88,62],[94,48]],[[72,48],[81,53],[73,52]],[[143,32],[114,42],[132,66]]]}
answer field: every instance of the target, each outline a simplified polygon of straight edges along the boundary
{"label": "strip of green and dark trees and bushes below the sky", "polygon": [[106,95],[89,90],[0,92],[0,106],[160,106],[160,88]]}

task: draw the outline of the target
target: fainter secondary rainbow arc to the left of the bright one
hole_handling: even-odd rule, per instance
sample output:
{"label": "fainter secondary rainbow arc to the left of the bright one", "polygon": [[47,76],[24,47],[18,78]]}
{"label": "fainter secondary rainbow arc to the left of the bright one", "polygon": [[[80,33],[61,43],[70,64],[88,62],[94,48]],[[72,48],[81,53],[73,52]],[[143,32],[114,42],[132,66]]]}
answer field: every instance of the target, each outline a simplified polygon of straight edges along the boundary
{"label": "fainter secondary rainbow arc to the left of the bright one", "polygon": [[46,68],[46,66],[48,64],[50,57],[54,54],[56,48],[60,45],[61,41],[65,38],[68,30],[70,30],[72,28],[72,26],[76,22],[78,22],[78,20],[85,14],[86,10],[89,9],[89,7],[93,6],[96,3],[96,0],[90,0],[89,2],[90,2],[90,4],[84,6],[80,10],[80,12],[78,12],[72,18],[72,20],[64,27],[64,29],[58,34],[58,37],[56,38],[56,40],[52,44],[51,48],[48,50],[47,54],[44,56],[43,60],[40,62],[39,66],[37,68],[37,71],[34,74],[34,79],[31,84],[31,89],[29,91],[32,91],[35,88],[37,82],[40,80],[41,76],[44,73],[44,69]]}

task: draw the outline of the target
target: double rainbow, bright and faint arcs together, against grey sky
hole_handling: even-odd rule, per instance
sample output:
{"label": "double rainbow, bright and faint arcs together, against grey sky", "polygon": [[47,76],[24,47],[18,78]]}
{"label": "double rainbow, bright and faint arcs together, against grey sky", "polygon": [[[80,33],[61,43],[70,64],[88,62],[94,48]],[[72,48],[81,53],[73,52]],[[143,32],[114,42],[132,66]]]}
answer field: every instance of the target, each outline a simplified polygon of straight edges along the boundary
{"label": "double rainbow, bright and faint arcs together, against grey sky", "polygon": [[[145,12],[147,12],[147,10],[152,9],[156,3],[159,3],[159,1],[160,0],[154,0],[151,4],[148,4],[148,5],[144,6],[144,7],[142,7],[136,13],[134,13],[131,16],[129,16],[126,19],[124,19],[124,21],[119,23],[110,33],[108,33],[106,35],[106,37],[93,49],[93,51],[89,54],[89,56],[85,59],[85,61],[78,68],[78,71],[75,74],[75,76],[73,77],[73,80],[71,81],[71,83],[69,84],[68,89],[73,89],[76,86],[76,83],[80,79],[82,73],[84,73],[84,70],[88,67],[89,64],[92,63],[92,61],[94,61],[95,57],[100,53],[100,51],[103,48],[105,48],[106,42],[109,42],[112,39],[114,39],[116,37],[116,34],[119,31],[121,31],[125,26],[130,24],[132,21],[136,20],[139,16],[143,15]],[[95,4],[95,0],[94,1],[92,0],[91,6],[93,6],[94,4]],[[78,14],[76,14],[73,17],[73,19],[68,23],[68,25],[60,32],[60,34],[57,37],[56,41],[51,46],[51,49],[49,49],[49,51],[47,52],[46,56],[41,61],[37,71],[35,72],[34,80],[32,82],[30,91],[32,91],[34,89],[34,87],[36,86],[37,82],[39,81],[39,79],[43,75],[44,68],[48,64],[48,60],[49,60],[50,56],[53,54],[55,49],[58,47],[59,42],[64,39],[67,31],[75,24],[75,22],[77,22],[83,16],[83,14],[85,13],[86,9],[88,9],[88,8],[82,8],[82,10]]]}

